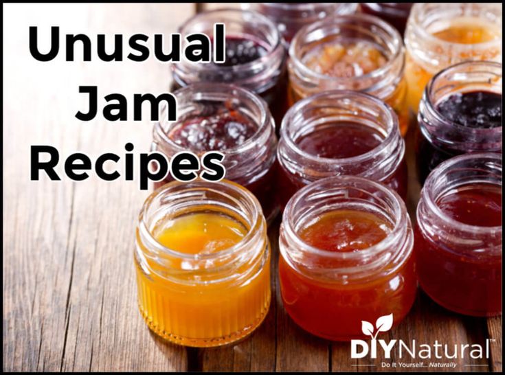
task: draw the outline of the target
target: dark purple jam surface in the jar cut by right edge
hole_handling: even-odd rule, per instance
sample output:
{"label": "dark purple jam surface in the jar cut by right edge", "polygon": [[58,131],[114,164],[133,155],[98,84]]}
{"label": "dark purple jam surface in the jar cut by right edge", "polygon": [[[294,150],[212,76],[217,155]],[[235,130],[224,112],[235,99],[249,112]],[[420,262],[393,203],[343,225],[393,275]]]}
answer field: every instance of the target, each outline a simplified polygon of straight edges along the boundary
{"label": "dark purple jam surface in the jar cut by right edge", "polygon": [[438,112],[447,120],[469,128],[502,126],[502,95],[490,91],[455,93],[442,100]]}

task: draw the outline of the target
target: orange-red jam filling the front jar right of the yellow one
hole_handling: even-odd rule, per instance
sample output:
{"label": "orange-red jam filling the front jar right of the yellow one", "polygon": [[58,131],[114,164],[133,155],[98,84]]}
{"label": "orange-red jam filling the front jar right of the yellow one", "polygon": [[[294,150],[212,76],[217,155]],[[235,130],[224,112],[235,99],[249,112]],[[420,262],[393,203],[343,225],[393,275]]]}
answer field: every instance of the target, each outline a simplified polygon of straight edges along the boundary
{"label": "orange-red jam filling the front jar right of the yellow one", "polygon": [[[372,324],[378,317],[394,316],[396,323],[409,311],[416,294],[414,262],[410,254],[402,264],[389,264],[379,277],[365,274],[356,280],[347,277],[352,266],[368,266],[367,252],[390,236],[391,223],[377,214],[354,209],[338,209],[319,216],[302,227],[298,237],[323,251],[317,256],[306,253],[297,264],[311,264],[300,271],[283,256],[279,273],[282,299],[287,312],[299,326],[319,337],[331,340],[363,338],[361,321]],[[393,246],[399,247],[398,243]],[[339,253],[341,258],[325,257]],[[346,254],[362,253],[364,258],[351,262]],[[343,255],[343,256],[342,256]],[[368,255],[369,256],[369,255]],[[319,280],[309,275],[312,269],[326,269],[330,276]],[[340,278],[340,281],[332,280]]]}

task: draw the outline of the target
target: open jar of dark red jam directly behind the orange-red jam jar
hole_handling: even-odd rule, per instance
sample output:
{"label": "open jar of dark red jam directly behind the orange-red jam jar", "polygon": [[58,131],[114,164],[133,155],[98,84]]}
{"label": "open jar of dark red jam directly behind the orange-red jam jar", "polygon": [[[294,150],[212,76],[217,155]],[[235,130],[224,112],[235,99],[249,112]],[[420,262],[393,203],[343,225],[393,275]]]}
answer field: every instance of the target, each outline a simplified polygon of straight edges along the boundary
{"label": "open jar of dark red jam directly behind the orange-red jam jar", "polygon": [[388,104],[354,91],[297,102],[284,116],[277,150],[281,205],[308,183],[340,175],[389,185],[405,198],[405,141]]}

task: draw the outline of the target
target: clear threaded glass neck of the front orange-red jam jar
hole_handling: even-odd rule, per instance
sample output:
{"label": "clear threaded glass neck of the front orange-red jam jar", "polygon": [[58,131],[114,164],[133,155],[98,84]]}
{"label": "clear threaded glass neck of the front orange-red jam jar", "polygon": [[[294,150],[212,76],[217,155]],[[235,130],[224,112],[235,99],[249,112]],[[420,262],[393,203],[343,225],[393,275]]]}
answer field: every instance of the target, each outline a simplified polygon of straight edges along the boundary
{"label": "clear threaded glass neck of the front orange-red jam jar", "polygon": [[[308,245],[299,231],[338,209],[370,212],[390,224],[386,238],[368,249],[325,251]],[[282,216],[280,252],[293,269],[311,278],[346,284],[394,273],[412,253],[413,234],[405,204],[396,192],[360,177],[330,177],[299,190]]]}

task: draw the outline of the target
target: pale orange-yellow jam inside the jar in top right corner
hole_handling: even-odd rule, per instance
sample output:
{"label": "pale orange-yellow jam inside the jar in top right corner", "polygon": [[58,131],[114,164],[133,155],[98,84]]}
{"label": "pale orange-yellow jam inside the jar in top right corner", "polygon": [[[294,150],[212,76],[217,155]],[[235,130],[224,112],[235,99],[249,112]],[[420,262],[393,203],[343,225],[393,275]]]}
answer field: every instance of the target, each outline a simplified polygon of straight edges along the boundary
{"label": "pale orange-yellow jam inside the jar in top right corner", "polygon": [[[448,60],[449,62],[447,64],[442,62],[436,69],[423,67],[407,53],[405,62],[405,77],[408,86],[407,102],[409,108],[416,113],[426,85],[438,71],[466,60],[501,60],[502,54],[501,49],[495,47],[482,49],[472,46],[497,41],[502,38],[502,32],[495,25],[487,25],[482,19],[460,17],[434,25],[428,31],[440,41],[454,43],[454,48],[444,49],[442,46],[438,47],[441,55],[440,60]],[[456,47],[458,44],[462,46]],[[468,47],[464,47],[464,45]]]}

